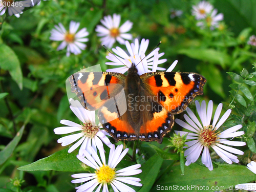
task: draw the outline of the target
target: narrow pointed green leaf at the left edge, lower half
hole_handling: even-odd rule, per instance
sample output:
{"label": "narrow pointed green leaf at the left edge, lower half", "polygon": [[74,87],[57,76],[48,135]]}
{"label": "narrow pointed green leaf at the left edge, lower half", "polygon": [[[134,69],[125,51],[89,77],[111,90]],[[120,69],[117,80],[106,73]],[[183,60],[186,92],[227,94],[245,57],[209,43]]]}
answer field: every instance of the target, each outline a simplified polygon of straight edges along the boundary
{"label": "narrow pointed green leaf at the left edge, lower half", "polygon": [[22,128],[20,128],[16,136],[11,140],[10,143],[8,143],[8,145],[6,145],[4,150],[0,152],[0,165],[2,165],[12,155],[13,150],[22,138],[24,129],[25,125],[23,125]]}

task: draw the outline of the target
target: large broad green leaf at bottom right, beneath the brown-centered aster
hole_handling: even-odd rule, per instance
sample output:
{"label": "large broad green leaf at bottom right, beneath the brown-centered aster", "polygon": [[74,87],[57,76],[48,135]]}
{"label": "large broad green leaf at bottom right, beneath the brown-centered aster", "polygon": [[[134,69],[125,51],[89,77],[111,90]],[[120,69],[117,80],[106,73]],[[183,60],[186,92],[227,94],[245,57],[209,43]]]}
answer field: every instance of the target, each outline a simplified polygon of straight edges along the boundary
{"label": "large broad green leaf at bottom right, beneath the brown-centered aster", "polygon": [[[223,186],[219,190],[225,191],[238,183],[248,183],[256,179],[256,174],[252,173],[246,166],[236,164],[218,164],[218,168],[209,171],[208,168],[202,167],[195,163],[185,166],[185,175],[181,177],[180,166],[173,166],[171,171],[158,180],[150,191],[160,191],[160,187],[167,187],[164,191],[214,191],[216,186]],[[175,187],[189,186],[190,189]],[[197,186],[197,188],[196,188]],[[203,187],[205,186],[205,187]],[[209,188],[207,188],[207,187]],[[169,188],[170,187],[170,188]],[[199,190],[199,187],[200,190]],[[224,189],[225,188],[225,189]],[[232,187],[231,187],[232,188]],[[164,189],[164,188],[162,188]],[[230,188],[228,188],[230,189]],[[161,190],[163,191],[163,190]]]}

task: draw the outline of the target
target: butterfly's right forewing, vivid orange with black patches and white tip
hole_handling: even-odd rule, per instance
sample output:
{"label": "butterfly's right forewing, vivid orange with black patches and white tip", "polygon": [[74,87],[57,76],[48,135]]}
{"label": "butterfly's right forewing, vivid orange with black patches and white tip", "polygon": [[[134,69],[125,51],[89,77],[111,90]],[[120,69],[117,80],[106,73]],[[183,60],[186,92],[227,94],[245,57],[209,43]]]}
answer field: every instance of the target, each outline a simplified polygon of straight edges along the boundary
{"label": "butterfly's right forewing, vivid orange with black patches and white tip", "polygon": [[154,95],[168,112],[179,114],[197,95],[203,94],[206,79],[197,73],[153,72],[141,76],[142,87]]}

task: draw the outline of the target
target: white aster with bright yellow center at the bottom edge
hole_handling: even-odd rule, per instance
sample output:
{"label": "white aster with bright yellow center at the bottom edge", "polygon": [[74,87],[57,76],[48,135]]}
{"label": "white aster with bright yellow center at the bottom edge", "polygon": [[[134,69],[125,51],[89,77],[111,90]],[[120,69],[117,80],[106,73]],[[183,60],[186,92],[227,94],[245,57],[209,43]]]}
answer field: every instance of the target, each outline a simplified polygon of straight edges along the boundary
{"label": "white aster with bright yellow center at the bottom edge", "polygon": [[[83,174],[74,174],[73,178],[80,178],[71,181],[72,183],[81,183],[86,182],[78,187],[76,187],[77,192],[81,191],[93,191],[98,185],[96,192],[99,192],[101,187],[103,186],[104,192],[109,191],[108,184],[110,184],[115,192],[118,191],[129,191],[134,192],[135,190],[123,183],[127,183],[135,186],[142,186],[139,183],[140,179],[136,177],[126,177],[137,175],[142,172],[141,169],[138,169],[141,165],[136,164],[129,167],[122,168],[120,170],[116,170],[117,164],[122,160],[122,158],[128,152],[128,148],[126,148],[122,152],[123,145],[118,145],[115,149],[115,145],[113,144],[110,149],[109,162],[106,164],[104,149],[103,147],[99,149],[101,161],[97,153],[92,149],[91,155],[84,151],[83,156],[77,155],[77,158],[87,164],[88,166],[96,169],[95,173],[83,173]],[[121,153],[122,152],[122,153]],[[125,176],[125,177],[123,177]],[[89,181],[89,182],[87,182]],[[123,183],[122,183],[123,182]]]}

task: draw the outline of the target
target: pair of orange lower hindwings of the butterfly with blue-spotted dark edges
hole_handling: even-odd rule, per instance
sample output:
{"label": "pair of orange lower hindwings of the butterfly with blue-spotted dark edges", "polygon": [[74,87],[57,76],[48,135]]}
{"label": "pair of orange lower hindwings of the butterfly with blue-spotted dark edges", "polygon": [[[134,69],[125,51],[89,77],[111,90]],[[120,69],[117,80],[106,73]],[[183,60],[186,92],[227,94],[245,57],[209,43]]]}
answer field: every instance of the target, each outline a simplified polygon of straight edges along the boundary
{"label": "pair of orange lower hindwings of the butterfly with blue-spotted dark edges", "polygon": [[[110,110],[109,106],[117,106],[118,110]],[[143,108],[133,109],[133,111],[129,111],[129,107],[127,107],[127,111],[119,116],[118,111],[121,111],[123,106],[107,101],[99,109],[98,117],[104,130],[116,142],[120,140],[133,141],[139,138],[141,141],[158,141],[162,143],[163,136],[170,132],[174,125],[174,115],[156,102],[145,102],[143,106]],[[131,118],[129,118],[129,114],[133,113],[134,110],[140,110],[142,122],[139,126],[133,125]]]}

